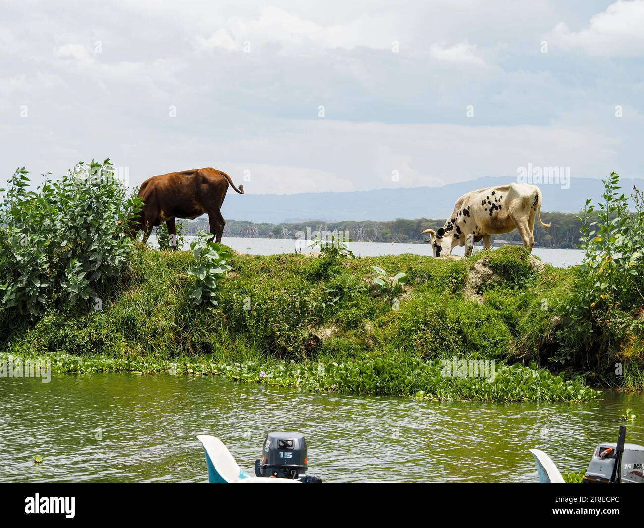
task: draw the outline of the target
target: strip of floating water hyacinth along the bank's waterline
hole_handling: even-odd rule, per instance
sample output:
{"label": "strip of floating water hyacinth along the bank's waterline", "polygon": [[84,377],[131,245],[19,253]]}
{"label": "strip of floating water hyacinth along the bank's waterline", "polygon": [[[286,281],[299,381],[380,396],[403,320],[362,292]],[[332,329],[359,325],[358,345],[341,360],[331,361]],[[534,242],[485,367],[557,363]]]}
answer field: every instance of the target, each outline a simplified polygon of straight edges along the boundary
{"label": "strip of floating water hyacinth along the bank's waterline", "polygon": [[[0,360],[6,355],[0,354]],[[246,362],[222,364],[207,358],[48,357],[57,373],[171,372],[177,375],[221,375],[231,380],[309,391],[366,395],[412,396],[430,400],[509,402],[582,402],[600,398],[600,391],[581,378],[565,380],[547,370],[520,365],[498,366],[493,378],[447,377],[437,361],[412,357],[379,357],[345,362]],[[533,365],[534,366],[534,365]]]}

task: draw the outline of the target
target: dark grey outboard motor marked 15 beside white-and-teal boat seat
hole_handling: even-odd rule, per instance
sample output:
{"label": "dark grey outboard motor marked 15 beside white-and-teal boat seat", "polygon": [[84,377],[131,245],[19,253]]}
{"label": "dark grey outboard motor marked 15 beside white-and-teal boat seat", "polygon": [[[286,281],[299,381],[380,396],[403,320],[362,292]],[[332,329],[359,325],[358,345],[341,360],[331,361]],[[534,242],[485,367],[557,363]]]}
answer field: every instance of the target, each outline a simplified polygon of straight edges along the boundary
{"label": "dark grey outboard motor marked 15 beside white-and-teal boat seat", "polygon": [[308,469],[307,441],[302,433],[269,433],[261,459],[255,460],[255,475],[269,478],[291,478],[320,484],[321,478],[304,475]]}

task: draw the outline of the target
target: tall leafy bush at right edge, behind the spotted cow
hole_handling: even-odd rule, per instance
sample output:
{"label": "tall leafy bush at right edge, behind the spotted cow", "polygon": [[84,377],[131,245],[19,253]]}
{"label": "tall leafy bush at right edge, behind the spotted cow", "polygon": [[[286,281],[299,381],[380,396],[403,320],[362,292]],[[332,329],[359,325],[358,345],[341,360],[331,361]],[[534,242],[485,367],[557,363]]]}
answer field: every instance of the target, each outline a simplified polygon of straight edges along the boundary
{"label": "tall leafy bush at right edge, behind the spotted cow", "polygon": [[[603,202],[587,200],[579,217],[585,255],[574,269],[571,295],[562,309],[561,353],[600,371],[612,371],[623,346],[644,333],[644,200],[634,188],[629,211],[619,179],[611,173],[604,180]],[[641,364],[642,352],[629,359]]]}

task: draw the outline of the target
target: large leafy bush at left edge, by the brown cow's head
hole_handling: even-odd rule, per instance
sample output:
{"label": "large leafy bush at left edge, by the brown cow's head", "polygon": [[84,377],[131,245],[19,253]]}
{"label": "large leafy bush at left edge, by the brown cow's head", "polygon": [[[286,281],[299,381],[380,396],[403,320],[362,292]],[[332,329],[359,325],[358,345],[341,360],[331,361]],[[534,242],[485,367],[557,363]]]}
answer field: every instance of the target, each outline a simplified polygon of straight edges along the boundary
{"label": "large leafy bush at left edge, by the brown cow's head", "polygon": [[102,297],[128,258],[126,226],[140,200],[128,197],[109,158],[80,162],[35,191],[27,173],[17,169],[0,190],[0,305],[39,315]]}

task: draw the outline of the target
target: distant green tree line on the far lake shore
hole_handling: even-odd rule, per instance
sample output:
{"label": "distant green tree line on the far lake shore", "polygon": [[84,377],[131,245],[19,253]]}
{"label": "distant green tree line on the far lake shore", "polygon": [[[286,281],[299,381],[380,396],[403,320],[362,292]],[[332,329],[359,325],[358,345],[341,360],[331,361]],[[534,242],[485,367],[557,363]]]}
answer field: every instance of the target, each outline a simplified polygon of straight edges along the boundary
{"label": "distant green tree line on the far lake shore", "polygon": [[[580,221],[573,213],[541,213],[545,223],[551,223],[550,229],[545,229],[535,221],[535,243],[544,248],[575,248],[580,237]],[[444,219],[396,219],[387,222],[373,220],[343,220],[341,222],[323,222],[310,220],[308,222],[285,222],[269,224],[265,222],[249,222],[248,220],[226,220],[223,231],[224,237],[241,237],[252,239],[294,239],[298,231],[348,231],[348,237],[356,242],[398,242],[414,244],[424,242],[425,235],[421,231],[427,228],[437,230],[445,224]],[[207,231],[207,219],[200,218],[193,222],[185,222],[185,234],[194,235],[199,230]],[[516,230],[503,235],[493,235],[493,240],[521,241]]]}

